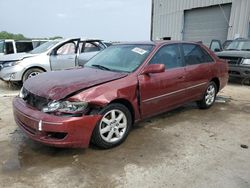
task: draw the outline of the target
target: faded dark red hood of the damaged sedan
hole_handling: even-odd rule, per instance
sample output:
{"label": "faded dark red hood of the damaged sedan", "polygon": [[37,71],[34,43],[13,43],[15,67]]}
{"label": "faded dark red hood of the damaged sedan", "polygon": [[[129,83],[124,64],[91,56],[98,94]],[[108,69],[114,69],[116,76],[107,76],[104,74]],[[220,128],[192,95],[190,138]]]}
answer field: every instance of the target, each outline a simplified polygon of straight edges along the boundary
{"label": "faded dark red hood of the damaged sedan", "polygon": [[29,92],[51,100],[60,100],[72,93],[123,78],[126,73],[95,68],[79,68],[42,73],[24,83]]}

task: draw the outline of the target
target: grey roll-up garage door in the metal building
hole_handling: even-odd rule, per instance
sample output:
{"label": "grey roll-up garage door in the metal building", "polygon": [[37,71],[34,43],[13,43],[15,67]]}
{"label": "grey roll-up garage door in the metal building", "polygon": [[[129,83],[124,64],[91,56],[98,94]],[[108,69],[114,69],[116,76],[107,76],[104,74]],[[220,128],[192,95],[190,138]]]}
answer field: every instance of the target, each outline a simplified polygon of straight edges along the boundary
{"label": "grey roll-up garage door in the metal building", "polygon": [[186,41],[202,41],[209,46],[212,39],[227,39],[231,4],[186,10],[184,33]]}

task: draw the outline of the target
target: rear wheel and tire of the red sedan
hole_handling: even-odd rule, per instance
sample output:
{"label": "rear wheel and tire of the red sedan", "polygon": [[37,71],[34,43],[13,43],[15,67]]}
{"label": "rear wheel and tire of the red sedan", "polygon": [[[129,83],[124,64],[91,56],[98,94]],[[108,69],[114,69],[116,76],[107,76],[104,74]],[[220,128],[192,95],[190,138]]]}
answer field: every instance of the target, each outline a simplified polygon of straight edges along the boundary
{"label": "rear wheel and tire of the red sedan", "polygon": [[216,94],[217,94],[217,85],[212,81],[208,84],[205,94],[202,100],[197,102],[197,105],[200,109],[208,109],[213,106]]}

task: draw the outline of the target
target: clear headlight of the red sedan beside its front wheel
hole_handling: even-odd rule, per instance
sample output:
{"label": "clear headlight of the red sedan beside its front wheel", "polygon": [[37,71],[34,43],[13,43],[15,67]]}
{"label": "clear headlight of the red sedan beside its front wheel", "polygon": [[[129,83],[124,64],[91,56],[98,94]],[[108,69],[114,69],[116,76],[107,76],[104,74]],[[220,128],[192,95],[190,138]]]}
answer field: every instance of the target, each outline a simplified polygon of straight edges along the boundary
{"label": "clear headlight of the red sedan beside its front wheel", "polygon": [[52,101],[42,109],[43,112],[81,113],[88,107],[87,102]]}

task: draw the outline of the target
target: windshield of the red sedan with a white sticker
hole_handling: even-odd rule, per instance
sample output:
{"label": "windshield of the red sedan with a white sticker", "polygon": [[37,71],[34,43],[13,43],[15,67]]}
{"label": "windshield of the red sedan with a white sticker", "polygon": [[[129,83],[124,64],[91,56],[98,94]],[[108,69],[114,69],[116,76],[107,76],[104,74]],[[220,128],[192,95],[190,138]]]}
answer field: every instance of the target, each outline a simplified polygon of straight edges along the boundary
{"label": "windshield of the red sedan with a white sticker", "polygon": [[89,60],[85,66],[117,72],[133,72],[148,57],[153,47],[153,45],[134,44],[110,46]]}

